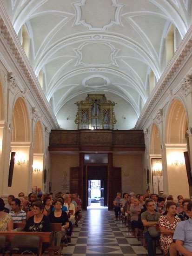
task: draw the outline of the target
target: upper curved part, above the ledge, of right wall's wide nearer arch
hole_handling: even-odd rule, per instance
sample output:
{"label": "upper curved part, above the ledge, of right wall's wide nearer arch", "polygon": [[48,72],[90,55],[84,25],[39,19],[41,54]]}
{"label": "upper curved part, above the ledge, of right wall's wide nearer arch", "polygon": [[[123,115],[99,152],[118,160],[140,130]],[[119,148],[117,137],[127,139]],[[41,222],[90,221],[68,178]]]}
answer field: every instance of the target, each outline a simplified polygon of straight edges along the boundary
{"label": "upper curved part, above the ledge, of right wall's wide nearer arch", "polygon": [[188,123],[184,105],[181,101],[175,100],[172,102],[166,118],[166,143],[186,143],[185,133],[187,129]]}

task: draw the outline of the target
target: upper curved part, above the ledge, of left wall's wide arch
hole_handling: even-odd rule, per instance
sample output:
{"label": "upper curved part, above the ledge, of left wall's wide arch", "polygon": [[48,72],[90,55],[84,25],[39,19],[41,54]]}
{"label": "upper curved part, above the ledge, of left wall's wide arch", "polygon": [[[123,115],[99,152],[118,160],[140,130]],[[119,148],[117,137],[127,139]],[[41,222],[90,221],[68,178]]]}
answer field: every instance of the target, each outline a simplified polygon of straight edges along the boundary
{"label": "upper curved part, above the ledge, of left wall's wide arch", "polygon": [[12,141],[30,141],[29,116],[26,103],[22,98],[18,98],[15,102],[12,127]]}

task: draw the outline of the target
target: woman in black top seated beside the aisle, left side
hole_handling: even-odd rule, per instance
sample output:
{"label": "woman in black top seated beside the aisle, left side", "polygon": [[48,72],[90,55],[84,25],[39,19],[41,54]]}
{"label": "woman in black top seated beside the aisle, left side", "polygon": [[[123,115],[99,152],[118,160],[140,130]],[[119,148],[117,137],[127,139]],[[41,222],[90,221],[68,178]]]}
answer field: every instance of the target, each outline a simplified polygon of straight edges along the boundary
{"label": "woman in black top seated beside the aisle, left side", "polygon": [[62,211],[62,204],[60,200],[53,202],[55,210],[50,213],[49,219],[52,223],[62,223],[62,231],[56,231],[55,234],[55,245],[60,245],[61,238],[66,236],[66,229],[69,227],[68,216],[65,211]]}

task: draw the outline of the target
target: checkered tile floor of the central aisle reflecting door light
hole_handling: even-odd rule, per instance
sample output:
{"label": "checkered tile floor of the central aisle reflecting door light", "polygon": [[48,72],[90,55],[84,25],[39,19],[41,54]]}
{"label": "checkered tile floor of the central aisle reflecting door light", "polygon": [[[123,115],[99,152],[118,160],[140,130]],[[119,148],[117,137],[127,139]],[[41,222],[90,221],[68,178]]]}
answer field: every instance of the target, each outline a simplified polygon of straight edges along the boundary
{"label": "checkered tile floor of the central aisle reflecting door light", "polygon": [[141,242],[131,236],[114,211],[89,209],[82,212],[79,227],[74,227],[71,243],[62,250],[64,256],[146,256]]}

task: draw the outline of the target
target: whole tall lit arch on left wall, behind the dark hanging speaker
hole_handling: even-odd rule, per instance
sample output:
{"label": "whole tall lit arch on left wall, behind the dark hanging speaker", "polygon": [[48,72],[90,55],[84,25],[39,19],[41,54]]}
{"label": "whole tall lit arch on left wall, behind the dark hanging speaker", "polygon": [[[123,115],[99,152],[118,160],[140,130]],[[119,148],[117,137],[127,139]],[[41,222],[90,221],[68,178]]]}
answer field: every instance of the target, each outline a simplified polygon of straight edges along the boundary
{"label": "whole tall lit arch on left wall, behind the dark hanging speaker", "polygon": [[31,190],[31,188],[29,188],[29,155],[31,141],[29,115],[26,103],[22,98],[18,98],[14,104],[12,128],[11,150],[15,152],[15,163],[12,185],[8,187],[8,194],[18,195],[21,190],[27,194]]}

